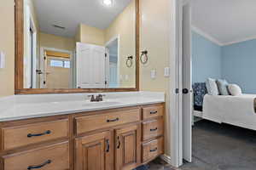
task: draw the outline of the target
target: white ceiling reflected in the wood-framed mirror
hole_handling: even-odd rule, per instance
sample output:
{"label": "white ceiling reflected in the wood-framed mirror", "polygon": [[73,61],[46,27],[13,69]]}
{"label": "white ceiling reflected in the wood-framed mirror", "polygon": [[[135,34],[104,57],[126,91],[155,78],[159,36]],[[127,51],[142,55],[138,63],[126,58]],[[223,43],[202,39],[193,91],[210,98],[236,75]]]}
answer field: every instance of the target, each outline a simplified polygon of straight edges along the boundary
{"label": "white ceiling reflected in the wood-framed mirror", "polygon": [[104,5],[102,0],[34,0],[34,3],[40,31],[74,37],[79,23],[101,29],[108,27],[131,0],[113,0],[110,7]]}

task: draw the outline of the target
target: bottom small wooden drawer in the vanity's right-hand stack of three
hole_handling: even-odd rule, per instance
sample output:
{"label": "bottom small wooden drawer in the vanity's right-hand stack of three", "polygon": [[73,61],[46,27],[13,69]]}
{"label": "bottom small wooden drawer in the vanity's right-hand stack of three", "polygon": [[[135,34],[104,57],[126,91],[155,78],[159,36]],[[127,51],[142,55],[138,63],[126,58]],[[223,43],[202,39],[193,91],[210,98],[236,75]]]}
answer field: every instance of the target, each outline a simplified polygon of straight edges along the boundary
{"label": "bottom small wooden drawer in the vanity's right-hand stack of three", "polygon": [[150,161],[156,156],[164,153],[163,137],[154,139],[146,144],[143,144],[143,162]]}

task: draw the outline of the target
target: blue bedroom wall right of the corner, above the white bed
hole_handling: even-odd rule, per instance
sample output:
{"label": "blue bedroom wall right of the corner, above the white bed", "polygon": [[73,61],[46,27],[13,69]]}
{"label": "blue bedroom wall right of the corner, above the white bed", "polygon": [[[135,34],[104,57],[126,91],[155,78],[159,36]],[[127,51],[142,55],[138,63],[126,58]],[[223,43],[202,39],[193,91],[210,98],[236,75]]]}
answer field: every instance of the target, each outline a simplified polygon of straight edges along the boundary
{"label": "blue bedroom wall right of the corner, above the white bed", "polygon": [[256,39],[222,47],[222,77],[256,94]]}

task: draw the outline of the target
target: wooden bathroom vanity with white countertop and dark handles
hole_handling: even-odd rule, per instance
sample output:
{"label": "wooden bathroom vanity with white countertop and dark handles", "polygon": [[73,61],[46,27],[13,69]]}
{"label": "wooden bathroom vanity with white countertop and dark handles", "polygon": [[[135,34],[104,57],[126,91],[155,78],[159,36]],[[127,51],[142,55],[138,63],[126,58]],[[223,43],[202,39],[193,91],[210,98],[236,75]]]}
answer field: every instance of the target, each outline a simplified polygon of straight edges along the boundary
{"label": "wooden bathroom vanity with white countertop and dark handles", "polygon": [[[16,104],[0,116],[1,169],[119,170],[152,161],[164,153],[164,98],[125,99],[37,101],[29,105],[48,108],[34,114]],[[73,110],[79,102],[84,109]]]}

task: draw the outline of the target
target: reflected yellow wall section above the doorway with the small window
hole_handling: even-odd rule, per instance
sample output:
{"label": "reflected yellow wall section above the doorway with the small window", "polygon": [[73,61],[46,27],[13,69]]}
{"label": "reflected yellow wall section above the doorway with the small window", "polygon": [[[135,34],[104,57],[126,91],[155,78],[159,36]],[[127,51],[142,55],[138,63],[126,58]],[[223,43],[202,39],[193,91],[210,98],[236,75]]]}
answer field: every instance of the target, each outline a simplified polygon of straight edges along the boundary
{"label": "reflected yellow wall section above the doorway with the small window", "polygon": [[40,32],[40,47],[73,51],[75,49],[75,40]]}

